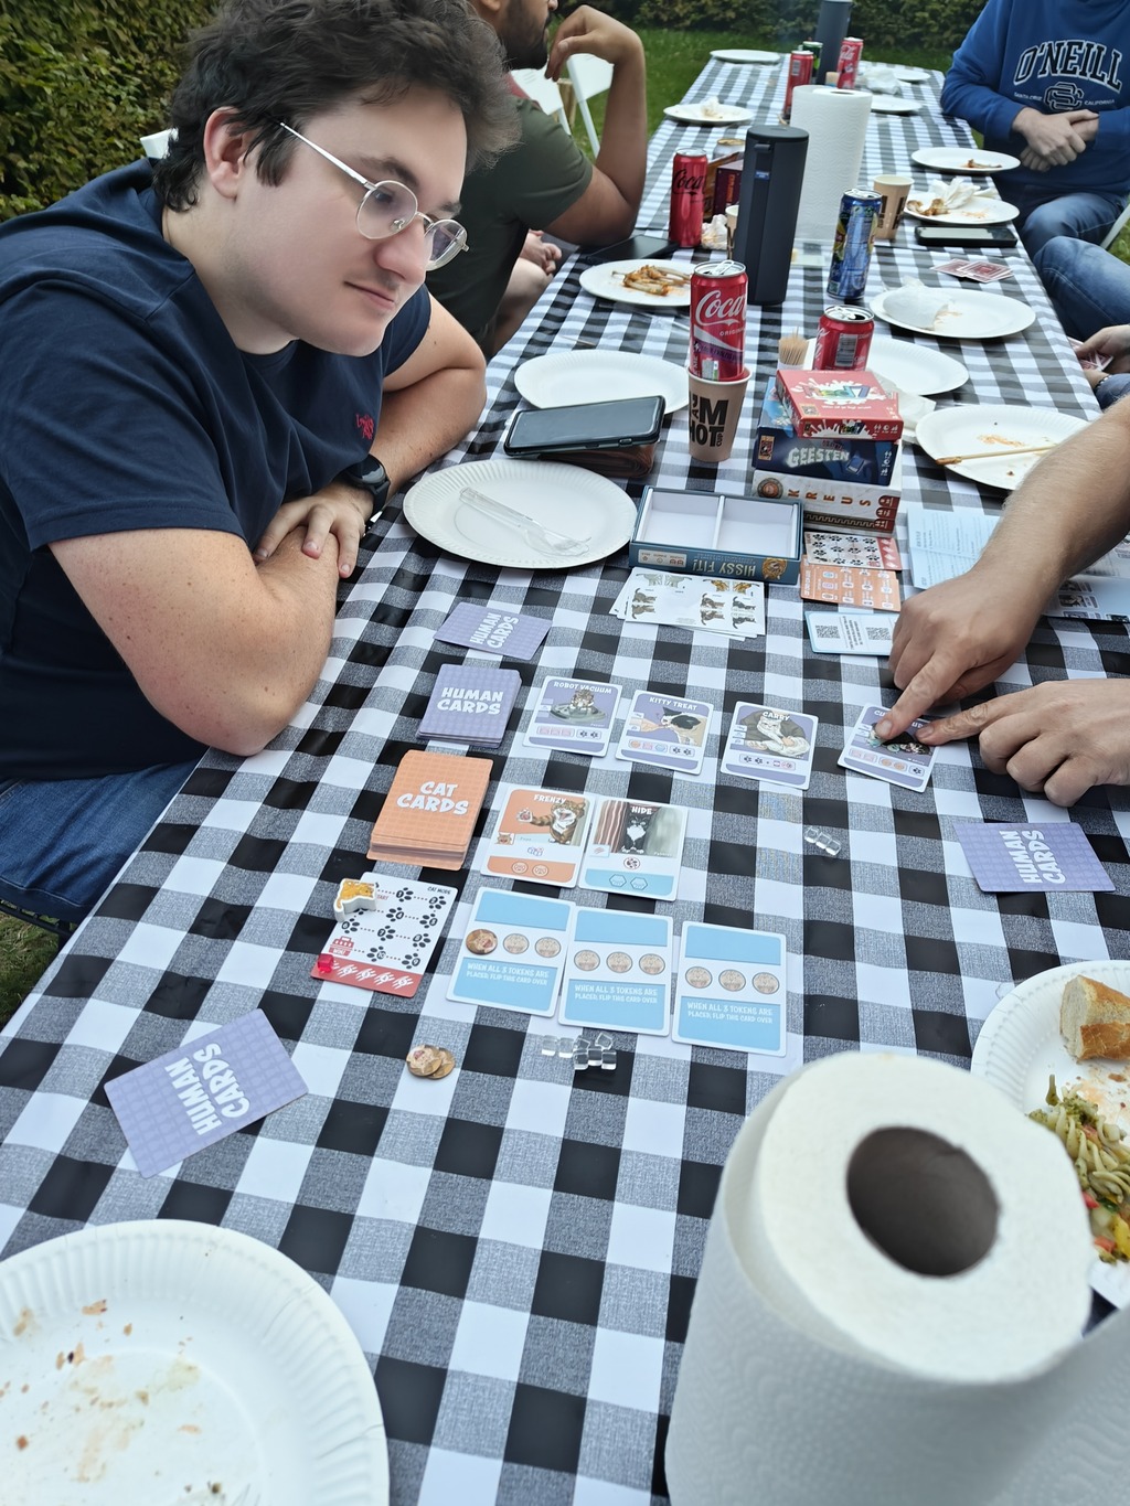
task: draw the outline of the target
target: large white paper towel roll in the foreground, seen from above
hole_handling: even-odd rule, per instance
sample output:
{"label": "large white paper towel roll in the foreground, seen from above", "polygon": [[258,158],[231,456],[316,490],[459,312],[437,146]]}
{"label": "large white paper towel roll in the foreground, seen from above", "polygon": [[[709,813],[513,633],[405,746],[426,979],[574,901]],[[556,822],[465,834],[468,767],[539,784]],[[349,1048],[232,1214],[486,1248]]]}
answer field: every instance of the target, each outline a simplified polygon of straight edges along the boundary
{"label": "large white paper towel roll in the foreground, seen from above", "polygon": [[1127,1452],[1130,1310],[1079,1340],[1091,1258],[1062,1146],[988,1083],[886,1054],[805,1068],[722,1176],[673,1506],[1077,1498]]}

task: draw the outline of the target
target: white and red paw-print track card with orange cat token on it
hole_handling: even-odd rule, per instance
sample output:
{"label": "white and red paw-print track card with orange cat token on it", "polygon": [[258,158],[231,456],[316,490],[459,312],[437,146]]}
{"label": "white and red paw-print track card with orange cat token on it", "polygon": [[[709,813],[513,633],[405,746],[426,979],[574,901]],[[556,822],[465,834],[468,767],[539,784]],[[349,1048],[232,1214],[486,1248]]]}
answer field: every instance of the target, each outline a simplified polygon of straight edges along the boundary
{"label": "white and red paw-print track card with orange cat token on it", "polygon": [[441,884],[386,873],[342,880],[333,905],[341,919],[310,977],[411,998],[455,898],[457,890]]}

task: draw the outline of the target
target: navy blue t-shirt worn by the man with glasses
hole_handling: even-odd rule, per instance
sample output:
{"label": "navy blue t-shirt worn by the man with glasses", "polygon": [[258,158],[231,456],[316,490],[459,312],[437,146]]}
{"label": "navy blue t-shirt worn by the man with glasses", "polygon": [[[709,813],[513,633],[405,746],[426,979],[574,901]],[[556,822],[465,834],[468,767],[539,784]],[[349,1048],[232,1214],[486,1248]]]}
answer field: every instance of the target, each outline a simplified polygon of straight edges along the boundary
{"label": "navy blue t-shirt worn by the man with glasses", "polygon": [[366,357],[232,342],[161,236],[146,163],[0,226],[0,779],[194,758],[47,548],[131,529],[237,533],[362,459],[420,289]]}

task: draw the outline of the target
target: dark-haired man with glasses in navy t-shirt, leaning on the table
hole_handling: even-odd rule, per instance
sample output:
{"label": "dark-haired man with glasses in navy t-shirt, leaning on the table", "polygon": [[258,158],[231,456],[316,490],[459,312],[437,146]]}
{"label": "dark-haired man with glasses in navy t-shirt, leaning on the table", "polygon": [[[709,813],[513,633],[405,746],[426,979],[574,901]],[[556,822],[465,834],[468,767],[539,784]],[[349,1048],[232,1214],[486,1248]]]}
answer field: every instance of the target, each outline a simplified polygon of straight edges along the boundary
{"label": "dark-haired man with glasses in navy t-shirt, leaning on the table", "polygon": [[0,896],[80,919],[313,688],[371,517],[481,411],[423,277],[511,111],[463,0],[229,0],[169,157],[0,229]]}

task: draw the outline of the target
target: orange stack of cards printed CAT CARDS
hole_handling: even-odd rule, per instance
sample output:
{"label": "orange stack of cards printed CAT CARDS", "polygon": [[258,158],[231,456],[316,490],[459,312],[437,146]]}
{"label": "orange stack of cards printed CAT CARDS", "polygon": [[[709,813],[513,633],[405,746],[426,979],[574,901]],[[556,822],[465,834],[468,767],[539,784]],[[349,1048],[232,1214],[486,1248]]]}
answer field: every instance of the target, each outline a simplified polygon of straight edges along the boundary
{"label": "orange stack of cards printed CAT CARDS", "polygon": [[405,753],[374,822],[369,857],[463,867],[493,773],[490,759]]}

